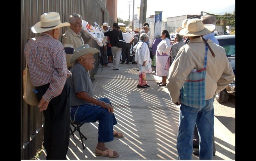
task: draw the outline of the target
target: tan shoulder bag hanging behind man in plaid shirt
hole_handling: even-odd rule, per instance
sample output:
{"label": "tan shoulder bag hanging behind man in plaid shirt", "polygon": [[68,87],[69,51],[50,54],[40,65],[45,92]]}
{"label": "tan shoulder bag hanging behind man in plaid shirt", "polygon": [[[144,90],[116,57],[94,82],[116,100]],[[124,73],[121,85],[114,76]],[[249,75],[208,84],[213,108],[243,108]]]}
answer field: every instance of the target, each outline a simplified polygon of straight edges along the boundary
{"label": "tan shoulder bag hanging behind man in plaid shirt", "polygon": [[34,92],[35,90],[36,87],[31,83],[28,64],[26,63],[26,67],[23,70],[23,100],[31,106],[38,104],[36,93]]}

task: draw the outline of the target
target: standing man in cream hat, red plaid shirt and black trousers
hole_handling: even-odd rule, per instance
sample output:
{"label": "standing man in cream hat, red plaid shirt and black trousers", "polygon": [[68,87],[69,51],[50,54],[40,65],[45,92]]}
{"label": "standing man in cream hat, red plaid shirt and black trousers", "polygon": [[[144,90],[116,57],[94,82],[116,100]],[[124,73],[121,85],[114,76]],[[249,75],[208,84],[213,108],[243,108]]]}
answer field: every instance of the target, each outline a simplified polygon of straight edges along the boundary
{"label": "standing man in cream hat, red plaid shirt and black trousers", "polygon": [[42,33],[30,39],[25,46],[30,78],[36,87],[38,107],[44,112],[44,147],[46,159],[66,159],[69,143],[69,86],[66,78],[65,50],[58,40],[61,27],[60,15],[49,12],[41,15],[40,22],[32,28],[33,33]]}

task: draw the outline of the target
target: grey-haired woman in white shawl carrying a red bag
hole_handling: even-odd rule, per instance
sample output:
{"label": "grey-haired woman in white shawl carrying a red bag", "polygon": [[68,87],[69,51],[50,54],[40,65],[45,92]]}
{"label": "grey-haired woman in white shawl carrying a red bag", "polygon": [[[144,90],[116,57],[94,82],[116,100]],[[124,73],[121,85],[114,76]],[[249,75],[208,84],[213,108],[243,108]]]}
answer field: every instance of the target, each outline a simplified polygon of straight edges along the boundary
{"label": "grey-haired woman in white shawl carrying a red bag", "polygon": [[[135,51],[135,61],[139,67],[139,74],[144,73],[151,73],[151,59],[150,59],[150,52],[149,46],[147,44],[148,35],[143,33],[140,35],[140,41],[133,47],[133,51]],[[140,79],[140,77],[139,77]],[[145,78],[146,80],[146,78]],[[147,81],[144,84],[138,84],[138,88],[147,88],[150,87],[147,84]]]}

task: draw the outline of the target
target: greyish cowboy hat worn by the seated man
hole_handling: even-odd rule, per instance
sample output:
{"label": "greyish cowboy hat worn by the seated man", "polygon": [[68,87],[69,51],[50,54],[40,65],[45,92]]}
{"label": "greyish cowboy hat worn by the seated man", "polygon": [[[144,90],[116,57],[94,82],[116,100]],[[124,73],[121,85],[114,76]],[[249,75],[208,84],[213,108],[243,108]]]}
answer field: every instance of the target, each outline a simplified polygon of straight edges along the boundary
{"label": "greyish cowboy hat worn by the seated man", "polygon": [[89,54],[89,53],[97,53],[100,52],[98,49],[94,47],[90,47],[88,44],[81,45],[74,49],[74,54],[70,59],[70,64],[73,64],[78,58]]}

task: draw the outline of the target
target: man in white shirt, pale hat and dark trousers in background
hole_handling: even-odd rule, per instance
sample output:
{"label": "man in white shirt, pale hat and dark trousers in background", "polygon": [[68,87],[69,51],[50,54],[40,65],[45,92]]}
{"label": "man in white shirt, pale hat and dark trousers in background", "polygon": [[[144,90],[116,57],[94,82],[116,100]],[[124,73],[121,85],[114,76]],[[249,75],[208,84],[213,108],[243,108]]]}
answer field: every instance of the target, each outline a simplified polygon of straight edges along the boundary
{"label": "man in white shirt, pale hat and dark trousers in background", "polygon": [[130,50],[131,50],[131,41],[132,41],[132,34],[130,32],[132,32],[132,29],[130,29],[129,27],[126,27],[125,31],[126,33],[123,34],[123,38],[126,42],[126,46],[125,48],[123,48],[121,64],[124,64],[125,58],[126,58],[125,64],[129,64],[130,62]]}

